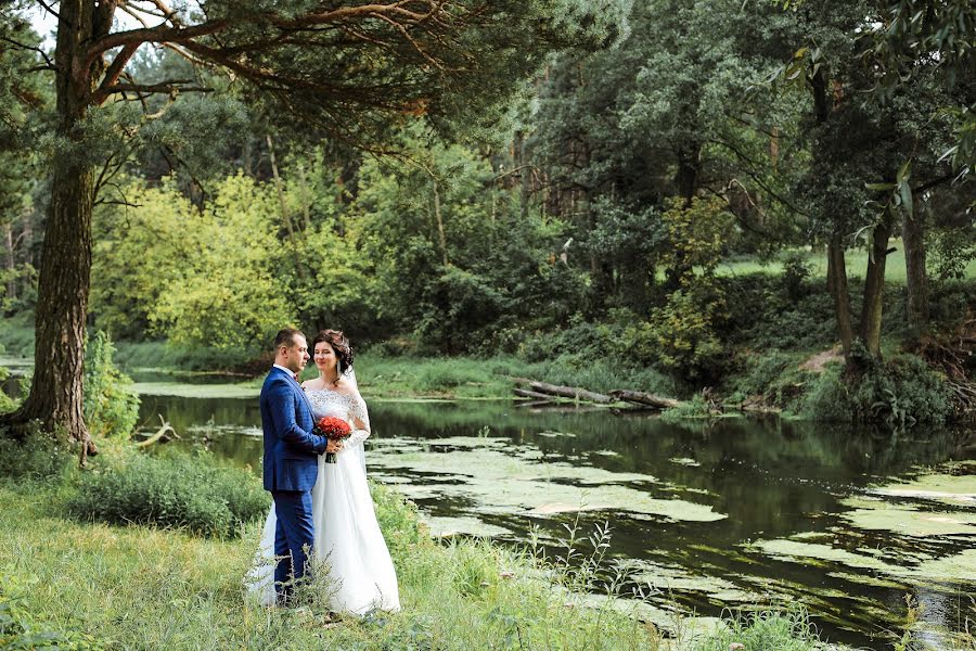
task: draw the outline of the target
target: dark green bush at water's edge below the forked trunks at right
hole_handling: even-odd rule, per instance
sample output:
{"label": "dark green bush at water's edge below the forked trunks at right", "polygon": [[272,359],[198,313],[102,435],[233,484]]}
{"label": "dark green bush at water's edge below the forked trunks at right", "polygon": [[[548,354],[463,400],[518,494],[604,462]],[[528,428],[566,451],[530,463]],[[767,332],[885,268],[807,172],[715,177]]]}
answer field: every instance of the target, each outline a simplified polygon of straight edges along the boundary
{"label": "dark green bush at water's edge below the forked trunks at right", "polygon": [[904,425],[943,422],[952,410],[946,383],[914,355],[866,362],[859,376],[829,367],[807,396],[805,413],[817,420]]}

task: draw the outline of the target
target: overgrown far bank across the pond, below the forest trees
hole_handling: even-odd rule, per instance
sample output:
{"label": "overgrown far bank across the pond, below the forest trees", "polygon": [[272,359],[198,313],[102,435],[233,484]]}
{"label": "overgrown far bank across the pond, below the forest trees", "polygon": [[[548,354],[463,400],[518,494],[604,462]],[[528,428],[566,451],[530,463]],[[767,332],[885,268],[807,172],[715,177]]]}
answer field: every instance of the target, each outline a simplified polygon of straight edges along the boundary
{"label": "overgrown far bank across the pond, below the forest trees", "polygon": [[[851,286],[857,312],[858,283]],[[506,345],[485,356],[424,355],[418,342],[401,339],[364,346],[357,350],[358,380],[365,396],[397,399],[508,399],[515,378],[596,393],[631,390],[684,400],[672,418],[754,411],[900,425],[972,418],[976,411],[971,380],[976,356],[966,343],[976,341],[971,332],[976,321],[965,318],[976,312],[972,279],[933,288],[933,326],[925,334],[907,324],[903,284],[889,283],[884,359],[871,362],[858,386],[842,378],[833,303],[821,282],[791,284],[752,270],[722,277],[722,292],[727,314],[716,333],[722,348],[707,376],[682,379],[654,361],[654,346],[635,349],[639,316],[612,310],[600,322],[577,316],[556,330],[513,330]],[[8,356],[31,355],[29,315],[0,320],[0,346]],[[133,375],[153,369],[214,373],[255,387],[267,367],[267,360],[233,352],[165,342],[116,342],[116,363]],[[235,372],[228,374],[229,369]],[[309,366],[303,378],[314,373]]]}

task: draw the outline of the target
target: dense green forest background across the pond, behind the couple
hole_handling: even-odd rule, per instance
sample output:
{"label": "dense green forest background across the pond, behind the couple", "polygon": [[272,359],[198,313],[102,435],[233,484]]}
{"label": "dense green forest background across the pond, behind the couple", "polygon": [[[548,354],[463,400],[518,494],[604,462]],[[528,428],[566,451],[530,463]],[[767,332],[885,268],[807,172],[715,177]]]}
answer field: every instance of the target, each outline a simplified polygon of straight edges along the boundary
{"label": "dense green forest background across the pond, behind the couple", "polygon": [[[448,394],[486,383],[473,357],[817,418],[969,413],[972,10],[627,12],[609,47],[548,55],[510,102],[445,128],[421,99],[365,149],[357,114],[303,122],[139,50],[150,90],[88,125],[88,328],[138,366],[257,372],[288,323],[343,329],[377,363],[452,357]],[[0,343],[26,355],[54,95],[16,74],[46,41],[4,30]]]}

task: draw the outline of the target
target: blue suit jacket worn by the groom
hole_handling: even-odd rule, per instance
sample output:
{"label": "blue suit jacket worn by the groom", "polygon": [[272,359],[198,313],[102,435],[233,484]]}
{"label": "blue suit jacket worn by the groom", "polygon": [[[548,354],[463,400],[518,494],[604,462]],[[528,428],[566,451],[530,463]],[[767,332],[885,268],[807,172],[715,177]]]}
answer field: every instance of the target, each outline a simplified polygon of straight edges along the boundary
{"label": "blue suit jacket worn by the groom", "polygon": [[298,383],[272,367],[261,386],[265,490],[310,490],[316,485],[316,456],[325,451],[329,439],[311,434],[313,419]]}

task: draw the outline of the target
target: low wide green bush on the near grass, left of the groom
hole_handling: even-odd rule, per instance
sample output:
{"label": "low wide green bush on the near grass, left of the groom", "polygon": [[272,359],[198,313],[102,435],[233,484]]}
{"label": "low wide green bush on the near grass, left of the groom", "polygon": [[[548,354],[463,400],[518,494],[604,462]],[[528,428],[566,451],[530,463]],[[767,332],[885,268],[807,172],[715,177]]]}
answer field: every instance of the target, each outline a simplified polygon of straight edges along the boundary
{"label": "low wide green bush on the near grass, left of the groom", "polygon": [[268,512],[268,494],[251,473],[206,457],[133,455],[92,471],[68,512],[113,524],[153,524],[219,538]]}

